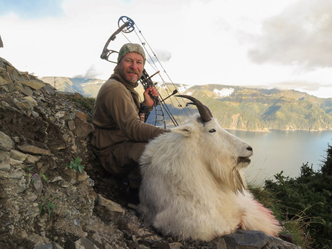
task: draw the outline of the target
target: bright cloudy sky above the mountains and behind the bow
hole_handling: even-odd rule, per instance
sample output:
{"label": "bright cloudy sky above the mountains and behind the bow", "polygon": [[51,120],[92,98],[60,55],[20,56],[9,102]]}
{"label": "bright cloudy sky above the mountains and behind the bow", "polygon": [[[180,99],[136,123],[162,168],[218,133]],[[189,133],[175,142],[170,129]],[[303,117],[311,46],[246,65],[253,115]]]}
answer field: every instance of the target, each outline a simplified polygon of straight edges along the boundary
{"label": "bright cloudy sky above the mountains and behind the bow", "polygon": [[332,98],[331,0],[0,0],[0,57],[37,77],[107,80],[115,64],[100,55],[122,16],[140,33],[109,49],[143,35],[174,83]]}

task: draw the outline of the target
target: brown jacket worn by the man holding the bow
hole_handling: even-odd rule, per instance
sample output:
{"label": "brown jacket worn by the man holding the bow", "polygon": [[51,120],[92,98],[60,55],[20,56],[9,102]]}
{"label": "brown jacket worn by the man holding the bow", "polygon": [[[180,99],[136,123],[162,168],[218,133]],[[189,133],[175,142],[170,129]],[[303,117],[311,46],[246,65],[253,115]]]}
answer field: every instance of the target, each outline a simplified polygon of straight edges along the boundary
{"label": "brown jacket worn by the man holding the bow", "polygon": [[125,82],[114,71],[95,99],[91,145],[98,156],[107,156],[121,142],[148,142],[169,131],[140,121],[139,97],[134,90],[138,84]]}

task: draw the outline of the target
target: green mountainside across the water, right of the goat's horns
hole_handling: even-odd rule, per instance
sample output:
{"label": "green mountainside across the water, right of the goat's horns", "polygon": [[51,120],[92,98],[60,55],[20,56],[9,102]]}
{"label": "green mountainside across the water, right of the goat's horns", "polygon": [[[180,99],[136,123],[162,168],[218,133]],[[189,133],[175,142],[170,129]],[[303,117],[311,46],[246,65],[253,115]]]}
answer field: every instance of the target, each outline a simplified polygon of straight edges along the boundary
{"label": "green mountainside across the water, right of the goat's horns", "polygon": [[244,89],[232,86],[232,95],[217,97],[206,85],[188,91],[212,111],[225,129],[259,131],[264,129],[325,130],[332,127],[330,99],[320,99],[297,91]]}

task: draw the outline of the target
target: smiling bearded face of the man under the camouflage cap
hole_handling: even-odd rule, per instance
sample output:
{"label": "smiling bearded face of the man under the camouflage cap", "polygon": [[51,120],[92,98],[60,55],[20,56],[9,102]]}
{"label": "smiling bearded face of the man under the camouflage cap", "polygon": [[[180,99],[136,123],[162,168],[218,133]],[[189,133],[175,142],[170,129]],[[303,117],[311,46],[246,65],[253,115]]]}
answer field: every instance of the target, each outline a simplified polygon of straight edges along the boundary
{"label": "smiling bearded face of the man under the camouflage cap", "polygon": [[129,83],[136,83],[142,76],[144,59],[139,53],[131,52],[124,55],[118,65],[120,75]]}

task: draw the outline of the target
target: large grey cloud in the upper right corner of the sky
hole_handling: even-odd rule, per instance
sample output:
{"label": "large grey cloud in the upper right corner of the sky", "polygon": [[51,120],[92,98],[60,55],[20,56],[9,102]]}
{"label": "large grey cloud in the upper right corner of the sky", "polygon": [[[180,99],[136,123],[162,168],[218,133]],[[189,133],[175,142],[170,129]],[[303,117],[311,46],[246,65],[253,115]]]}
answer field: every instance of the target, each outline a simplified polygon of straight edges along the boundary
{"label": "large grey cloud in the upper right corner of the sky", "polygon": [[257,64],[332,67],[332,1],[302,0],[266,19],[248,56]]}

